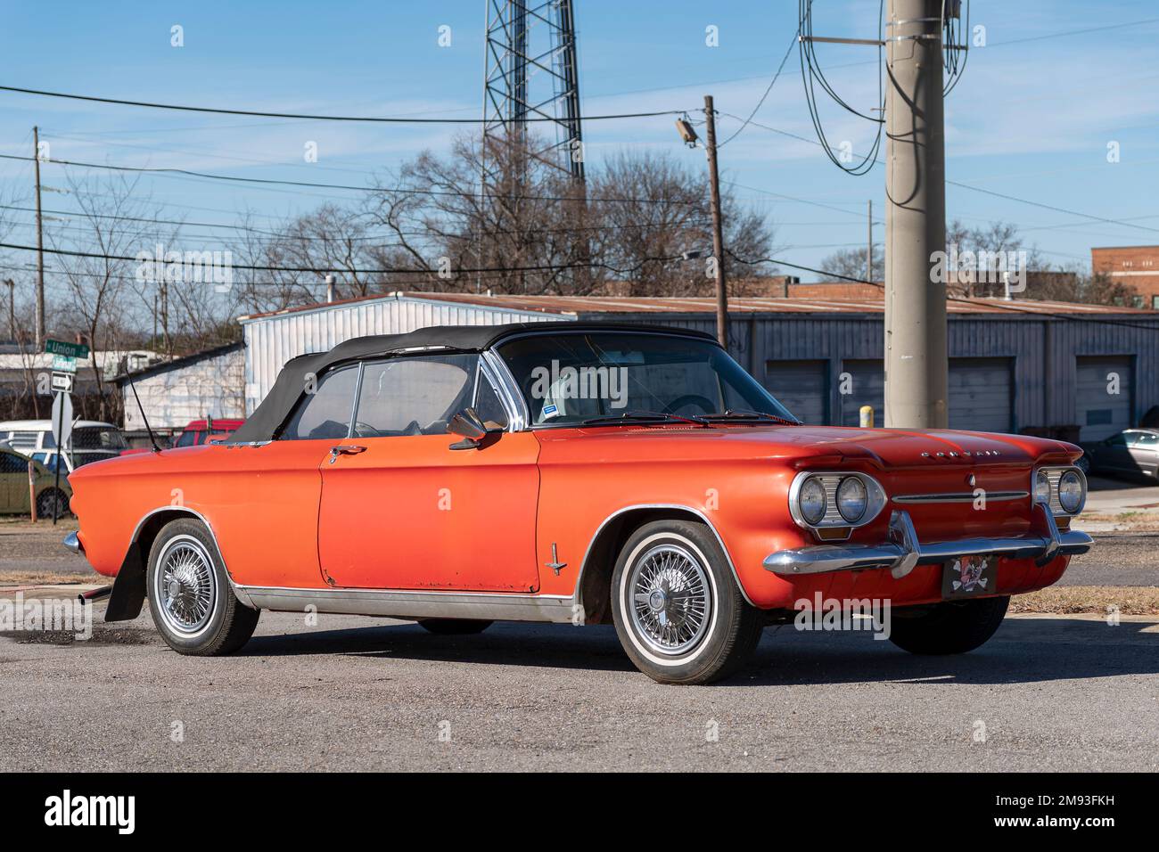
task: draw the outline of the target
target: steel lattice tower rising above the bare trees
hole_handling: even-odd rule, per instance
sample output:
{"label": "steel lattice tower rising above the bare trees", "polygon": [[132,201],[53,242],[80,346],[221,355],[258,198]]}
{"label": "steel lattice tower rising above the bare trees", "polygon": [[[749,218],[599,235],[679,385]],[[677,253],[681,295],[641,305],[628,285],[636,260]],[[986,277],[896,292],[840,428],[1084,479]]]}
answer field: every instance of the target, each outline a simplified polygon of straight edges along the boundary
{"label": "steel lattice tower rising above the bare trees", "polygon": [[484,150],[500,139],[527,145],[583,181],[571,0],[487,0],[483,75]]}

